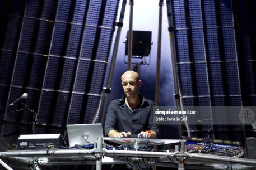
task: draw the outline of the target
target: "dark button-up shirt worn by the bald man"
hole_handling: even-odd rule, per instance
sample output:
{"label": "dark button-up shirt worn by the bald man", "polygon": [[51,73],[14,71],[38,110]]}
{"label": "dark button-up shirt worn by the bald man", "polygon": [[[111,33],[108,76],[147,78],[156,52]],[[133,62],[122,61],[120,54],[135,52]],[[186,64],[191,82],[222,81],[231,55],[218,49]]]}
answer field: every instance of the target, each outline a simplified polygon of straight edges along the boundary
{"label": "dark button-up shirt worn by the bald man", "polygon": [[106,115],[106,135],[110,130],[131,132],[132,136],[136,136],[142,130],[153,130],[157,134],[159,133],[159,127],[153,121],[155,103],[144,98],[141,94],[139,94],[139,98],[140,102],[133,111],[125,104],[125,95],[122,99],[111,101]]}

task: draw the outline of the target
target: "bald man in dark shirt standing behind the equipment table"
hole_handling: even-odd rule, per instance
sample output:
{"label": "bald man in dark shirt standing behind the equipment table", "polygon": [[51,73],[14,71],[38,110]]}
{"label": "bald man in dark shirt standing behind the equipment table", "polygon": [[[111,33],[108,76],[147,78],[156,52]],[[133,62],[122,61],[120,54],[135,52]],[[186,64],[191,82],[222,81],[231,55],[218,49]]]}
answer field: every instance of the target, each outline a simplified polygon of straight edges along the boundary
{"label": "bald man in dark shirt standing behind the equipment table", "polygon": [[124,95],[111,101],[105,122],[108,137],[156,138],[159,128],[153,122],[155,103],[139,93],[142,81],[134,71],[126,71],[121,77]]}

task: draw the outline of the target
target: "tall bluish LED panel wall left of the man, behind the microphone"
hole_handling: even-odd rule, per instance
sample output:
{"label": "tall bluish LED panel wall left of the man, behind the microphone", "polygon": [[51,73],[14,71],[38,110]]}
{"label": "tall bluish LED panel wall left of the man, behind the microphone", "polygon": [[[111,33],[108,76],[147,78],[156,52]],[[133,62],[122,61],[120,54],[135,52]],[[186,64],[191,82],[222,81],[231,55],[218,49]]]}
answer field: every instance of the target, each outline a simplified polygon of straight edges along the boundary
{"label": "tall bluish LED panel wall left of the man, behind the microphone", "polygon": [[[118,6],[118,0],[0,1],[0,138],[31,134],[35,113],[36,134],[93,123]],[[23,93],[32,111],[8,107]]]}

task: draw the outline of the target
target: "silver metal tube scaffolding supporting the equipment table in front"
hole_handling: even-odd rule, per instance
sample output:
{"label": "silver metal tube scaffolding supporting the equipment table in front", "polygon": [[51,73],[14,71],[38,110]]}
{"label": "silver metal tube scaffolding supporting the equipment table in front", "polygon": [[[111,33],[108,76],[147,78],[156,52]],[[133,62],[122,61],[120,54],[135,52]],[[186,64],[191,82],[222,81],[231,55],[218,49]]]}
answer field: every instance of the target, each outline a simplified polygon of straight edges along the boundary
{"label": "silver metal tube scaffolding supporting the equipment table in front", "polygon": [[[160,139],[163,140],[163,139]],[[209,154],[198,154],[198,153],[187,153],[185,152],[185,140],[179,140],[179,150],[176,152],[154,152],[151,151],[139,151],[139,150],[107,150],[102,148],[102,138],[97,140],[97,147],[94,149],[43,149],[43,150],[11,150],[7,152],[1,152],[0,158],[8,158],[8,161],[22,162],[24,163],[24,158],[26,157],[26,162],[32,165],[32,169],[40,169],[39,166],[50,166],[50,165],[62,165],[62,164],[96,164],[96,169],[101,170],[103,164],[104,156],[110,157],[148,157],[148,158],[158,158],[156,165],[165,164],[169,157],[173,157],[178,160],[178,169],[185,169],[184,163],[186,161],[203,161],[211,163],[225,164],[227,167],[232,166],[232,164],[250,166],[250,168],[256,168],[255,159],[245,159],[245,158],[234,158],[218,155]],[[88,157],[87,157],[88,156]],[[92,157],[90,157],[92,156]],[[95,157],[94,157],[95,156]],[[72,158],[81,158],[81,160]],[[48,159],[53,159],[49,161]],[[65,159],[64,159],[65,158]],[[31,161],[29,161],[31,159]],[[68,159],[68,161],[67,161]],[[1,161],[1,159],[0,159]],[[10,169],[10,167],[4,163],[0,162],[3,166]],[[125,163],[125,162],[118,162]],[[113,162],[105,162],[104,164],[113,164]]]}

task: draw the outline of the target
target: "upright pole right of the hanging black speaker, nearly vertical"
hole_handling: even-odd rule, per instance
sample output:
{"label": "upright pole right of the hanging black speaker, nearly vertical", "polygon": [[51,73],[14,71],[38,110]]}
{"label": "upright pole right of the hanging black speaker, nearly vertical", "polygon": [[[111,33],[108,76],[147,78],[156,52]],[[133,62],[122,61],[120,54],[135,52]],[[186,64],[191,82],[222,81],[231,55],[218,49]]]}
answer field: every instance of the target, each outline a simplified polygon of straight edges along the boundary
{"label": "upright pole right of the hanging black speaker, nearly vertical", "polygon": [[159,22],[158,22],[158,37],[157,37],[157,60],[156,60],[156,92],[155,103],[159,106],[160,93],[160,64],[161,64],[161,41],[162,41],[162,6],[164,0],[159,1]]}

